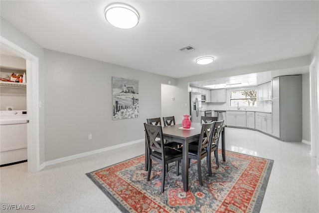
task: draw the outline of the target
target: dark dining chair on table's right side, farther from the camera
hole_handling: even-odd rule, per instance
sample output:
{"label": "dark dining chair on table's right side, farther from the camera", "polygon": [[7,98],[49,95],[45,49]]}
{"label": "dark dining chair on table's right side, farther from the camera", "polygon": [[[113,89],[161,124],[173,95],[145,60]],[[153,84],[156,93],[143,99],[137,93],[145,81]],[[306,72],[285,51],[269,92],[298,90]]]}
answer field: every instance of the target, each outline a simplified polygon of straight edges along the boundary
{"label": "dark dining chair on table's right side, farther from the camera", "polygon": [[215,160],[216,160],[216,166],[219,168],[219,161],[218,161],[218,144],[219,144],[219,137],[220,132],[223,127],[224,120],[216,121],[214,126],[214,131],[211,137],[211,141],[209,142],[210,152],[207,155],[207,167],[208,169],[208,175],[211,177],[211,153],[214,152]]}

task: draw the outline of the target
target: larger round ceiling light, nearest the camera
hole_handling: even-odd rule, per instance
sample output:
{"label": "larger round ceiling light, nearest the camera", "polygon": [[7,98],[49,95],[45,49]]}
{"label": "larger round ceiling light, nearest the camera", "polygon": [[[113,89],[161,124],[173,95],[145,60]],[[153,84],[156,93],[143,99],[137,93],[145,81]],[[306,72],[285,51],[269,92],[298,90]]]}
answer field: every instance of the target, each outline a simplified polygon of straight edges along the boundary
{"label": "larger round ceiling light, nearest the camera", "polygon": [[113,3],[105,9],[106,20],[119,28],[129,29],[135,27],[140,20],[140,15],[132,6],[124,3]]}

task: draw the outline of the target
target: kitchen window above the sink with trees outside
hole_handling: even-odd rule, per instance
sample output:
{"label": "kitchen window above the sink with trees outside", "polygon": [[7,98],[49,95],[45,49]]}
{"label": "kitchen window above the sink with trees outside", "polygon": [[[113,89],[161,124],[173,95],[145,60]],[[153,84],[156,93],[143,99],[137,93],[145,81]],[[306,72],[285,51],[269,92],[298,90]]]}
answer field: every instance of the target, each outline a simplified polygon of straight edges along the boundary
{"label": "kitchen window above the sink with trees outside", "polygon": [[230,106],[254,107],[257,106],[257,90],[245,89],[230,92]]}

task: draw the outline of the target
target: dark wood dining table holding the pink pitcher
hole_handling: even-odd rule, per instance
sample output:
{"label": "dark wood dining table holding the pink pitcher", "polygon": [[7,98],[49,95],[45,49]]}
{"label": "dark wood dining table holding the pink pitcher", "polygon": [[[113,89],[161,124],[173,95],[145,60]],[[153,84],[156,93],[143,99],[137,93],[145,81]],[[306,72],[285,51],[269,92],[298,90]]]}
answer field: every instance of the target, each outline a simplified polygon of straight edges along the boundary
{"label": "dark wood dining table holding the pink pitcher", "polygon": [[[184,192],[188,191],[188,144],[193,141],[198,141],[201,131],[201,124],[200,123],[191,123],[191,127],[194,129],[189,130],[182,130],[179,129],[182,127],[181,124],[171,125],[162,127],[163,132],[163,139],[167,141],[174,141],[177,143],[182,144],[182,153],[183,153],[183,160],[182,160],[182,181],[183,181],[183,189]],[[223,125],[222,132],[221,132],[221,138],[222,138],[222,157],[223,161],[226,161],[225,157],[225,125]],[[145,149],[145,170],[148,170],[147,168],[147,148]]]}

